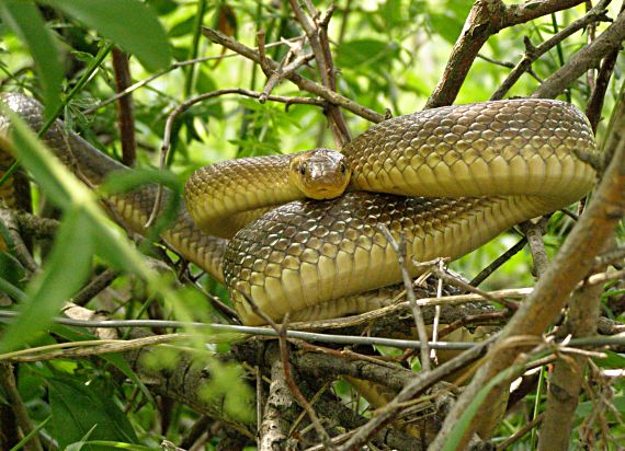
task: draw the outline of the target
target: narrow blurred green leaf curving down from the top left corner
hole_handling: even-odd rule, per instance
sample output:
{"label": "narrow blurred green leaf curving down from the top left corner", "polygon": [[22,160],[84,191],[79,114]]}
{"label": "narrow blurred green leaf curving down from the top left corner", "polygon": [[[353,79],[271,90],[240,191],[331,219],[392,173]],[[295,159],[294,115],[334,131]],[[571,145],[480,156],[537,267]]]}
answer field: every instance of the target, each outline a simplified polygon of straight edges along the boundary
{"label": "narrow blurred green leaf curving down from the top left corner", "polygon": [[55,38],[34,3],[23,0],[2,0],[0,16],[31,51],[43,91],[47,119],[60,105],[64,76]]}

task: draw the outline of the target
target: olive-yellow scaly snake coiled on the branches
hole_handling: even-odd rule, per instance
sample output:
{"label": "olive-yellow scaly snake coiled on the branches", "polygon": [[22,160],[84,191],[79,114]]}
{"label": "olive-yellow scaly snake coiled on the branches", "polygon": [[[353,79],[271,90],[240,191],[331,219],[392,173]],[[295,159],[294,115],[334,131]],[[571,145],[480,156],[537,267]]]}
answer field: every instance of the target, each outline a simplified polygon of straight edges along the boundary
{"label": "olive-yellow scaly snake coiled on the branches", "polygon": [[[15,93],[1,99],[41,128],[36,101]],[[9,128],[0,116],[0,131]],[[92,185],[128,171],[60,123],[43,139]],[[185,208],[161,238],[225,282],[243,324],[361,313],[388,302],[387,287],[401,281],[383,226],[405,240],[408,270],[417,276],[423,270],[417,262],[457,259],[512,226],[580,199],[595,183],[589,161],[596,153],[588,119],[568,103],[514,99],[432,108],[376,124],[340,152],[201,169],[186,184]],[[317,169],[316,160],[337,170]],[[318,194],[308,198],[297,174],[317,174]],[[156,192],[147,185],[110,196],[107,205],[145,232]]]}

